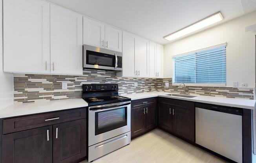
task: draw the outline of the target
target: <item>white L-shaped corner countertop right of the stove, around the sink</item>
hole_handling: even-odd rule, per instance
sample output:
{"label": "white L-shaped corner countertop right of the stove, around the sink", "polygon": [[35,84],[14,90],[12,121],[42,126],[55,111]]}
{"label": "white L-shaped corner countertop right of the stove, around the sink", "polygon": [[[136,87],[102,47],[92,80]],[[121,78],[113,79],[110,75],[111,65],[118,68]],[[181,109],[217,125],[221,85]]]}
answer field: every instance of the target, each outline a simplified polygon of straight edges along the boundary
{"label": "white L-shaped corner countertop right of the stove, around the sink", "polygon": [[243,109],[252,109],[252,110],[254,109],[255,102],[256,102],[256,100],[200,96],[198,94],[191,94],[196,96],[194,98],[168,96],[167,94],[177,94],[177,93],[153,91],[153,92],[143,92],[143,93],[136,93],[136,94],[121,94],[121,96],[131,98],[132,100],[139,100],[139,99],[151,98],[151,97],[165,97],[165,98],[173,98],[178,100],[187,100],[187,101],[208,103],[213,105],[222,105],[227,107],[237,107],[237,108],[243,108]]}

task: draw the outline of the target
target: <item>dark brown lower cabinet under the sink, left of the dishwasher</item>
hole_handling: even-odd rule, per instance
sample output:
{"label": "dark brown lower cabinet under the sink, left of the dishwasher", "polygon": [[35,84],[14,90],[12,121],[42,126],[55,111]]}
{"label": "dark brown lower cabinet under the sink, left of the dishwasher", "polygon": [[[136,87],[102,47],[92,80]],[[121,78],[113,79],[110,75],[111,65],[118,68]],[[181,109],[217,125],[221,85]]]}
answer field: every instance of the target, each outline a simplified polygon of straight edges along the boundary
{"label": "dark brown lower cabinet under the sink, left of the dishwasher", "polygon": [[184,100],[159,98],[158,106],[159,128],[194,143],[194,103]]}

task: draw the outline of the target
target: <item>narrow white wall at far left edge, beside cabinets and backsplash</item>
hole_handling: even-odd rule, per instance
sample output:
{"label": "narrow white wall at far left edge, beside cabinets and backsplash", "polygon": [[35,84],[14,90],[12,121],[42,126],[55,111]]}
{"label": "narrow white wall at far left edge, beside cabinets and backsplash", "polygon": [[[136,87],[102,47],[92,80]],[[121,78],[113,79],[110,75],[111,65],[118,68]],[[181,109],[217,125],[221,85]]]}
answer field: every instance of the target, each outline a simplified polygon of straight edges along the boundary
{"label": "narrow white wall at far left edge, beside cabinets and backsplash", "polygon": [[3,2],[0,0],[0,109],[13,104],[13,74],[3,72],[2,5]]}

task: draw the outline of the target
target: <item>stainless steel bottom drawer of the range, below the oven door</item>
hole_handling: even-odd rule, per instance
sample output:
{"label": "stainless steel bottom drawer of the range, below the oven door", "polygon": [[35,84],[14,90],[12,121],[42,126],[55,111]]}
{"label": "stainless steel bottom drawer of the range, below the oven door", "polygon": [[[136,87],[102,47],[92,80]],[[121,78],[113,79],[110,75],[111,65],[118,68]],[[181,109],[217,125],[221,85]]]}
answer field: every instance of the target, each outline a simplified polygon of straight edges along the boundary
{"label": "stainless steel bottom drawer of the range, below the oven door", "polygon": [[114,138],[88,147],[88,162],[104,156],[131,143],[131,132],[126,132]]}

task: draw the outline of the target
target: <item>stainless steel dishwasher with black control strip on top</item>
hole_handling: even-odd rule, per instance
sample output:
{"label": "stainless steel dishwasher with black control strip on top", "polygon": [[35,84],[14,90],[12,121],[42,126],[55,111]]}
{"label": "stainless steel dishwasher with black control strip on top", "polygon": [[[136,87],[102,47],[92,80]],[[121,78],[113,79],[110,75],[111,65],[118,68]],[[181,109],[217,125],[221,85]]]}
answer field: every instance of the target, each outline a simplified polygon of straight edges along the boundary
{"label": "stainless steel dishwasher with black control strip on top", "polygon": [[238,163],[243,162],[243,110],[196,103],[196,143]]}

